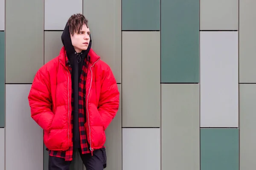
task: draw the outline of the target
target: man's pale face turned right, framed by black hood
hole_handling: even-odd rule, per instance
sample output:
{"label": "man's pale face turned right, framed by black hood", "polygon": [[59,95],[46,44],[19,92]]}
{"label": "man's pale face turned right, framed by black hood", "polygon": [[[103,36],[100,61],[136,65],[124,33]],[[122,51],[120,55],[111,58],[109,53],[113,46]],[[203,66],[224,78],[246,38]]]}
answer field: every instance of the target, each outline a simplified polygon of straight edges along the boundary
{"label": "man's pale face turned right, framed by black hood", "polygon": [[79,32],[75,32],[73,36],[70,34],[70,37],[77,53],[80,53],[82,50],[87,50],[90,42],[90,30],[85,24]]}

